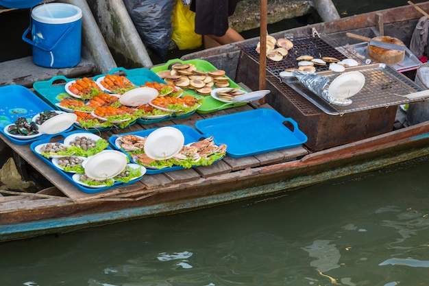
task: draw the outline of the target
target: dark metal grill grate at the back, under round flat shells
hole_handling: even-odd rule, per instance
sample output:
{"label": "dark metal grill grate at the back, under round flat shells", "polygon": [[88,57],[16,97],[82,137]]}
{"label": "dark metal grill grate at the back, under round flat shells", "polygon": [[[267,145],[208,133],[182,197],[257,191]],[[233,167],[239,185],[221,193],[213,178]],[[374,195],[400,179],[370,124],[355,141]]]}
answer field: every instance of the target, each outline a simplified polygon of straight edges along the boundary
{"label": "dark metal grill grate at the back, under round flat shells", "polygon": [[[354,58],[358,62],[362,63],[361,60],[347,51],[347,49],[342,47],[335,48],[334,45],[332,45],[334,43],[332,43],[332,40],[327,36],[324,39],[317,36],[308,36],[305,38],[290,38],[290,40],[293,42],[293,49],[289,50],[288,55],[284,57],[283,60],[275,62],[267,58],[267,71],[278,78],[280,78],[279,73],[285,69],[297,68],[297,57],[304,55],[310,55],[314,58],[332,57],[339,60]],[[258,40],[246,42],[239,45],[239,47],[248,56],[256,60],[256,62],[259,62],[260,55],[256,52],[256,45],[258,45]],[[317,68],[317,72],[328,71],[328,64],[315,67]]]}

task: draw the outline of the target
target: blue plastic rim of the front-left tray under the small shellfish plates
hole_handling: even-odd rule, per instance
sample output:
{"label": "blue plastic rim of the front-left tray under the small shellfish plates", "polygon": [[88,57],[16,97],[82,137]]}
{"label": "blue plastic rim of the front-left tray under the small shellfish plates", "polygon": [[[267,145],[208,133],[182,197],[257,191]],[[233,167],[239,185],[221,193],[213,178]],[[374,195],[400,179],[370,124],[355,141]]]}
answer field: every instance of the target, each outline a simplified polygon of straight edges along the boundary
{"label": "blue plastic rim of the front-left tray under the small shellfish plates", "polygon": [[[99,193],[100,191],[106,191],[108,189],[113,189],[113,188],[117,188],[117,187],[123,187],[127,184],[134,184],[134,182],[136,182],[135,180],[131,181],[131,182],[114,182],[114,184],[110,187],[103,187],[103,188],[89,188],[89,187],[85,187],[82,186],[82,184],[77,184],[73,178],[71,178],[73,176],[72,173],[68,173],[66,171],[63,171],[62,169],[57,168],[55,165],[53,165],[51,159],[45,158],[44,156],[38,154],[34,148],[39,145],[39,144],[43,144],[43,143],[48,143],[51,141],[51,139],[53,137],[56,136],[64,136],[64,138],[66,138],[66,136],[69,136],[73,133],[82,133],[82,130],[77,130],[77,131],[72,131],[72,132],[62,132],[60,134],[56,134],[53,136],[48,136],[46,139],[42,139],[42,140],[38,140],[38,141],[34,141],[31,145],[30,145],[30,149],[32,150],[32,152],[34,152],[34,154],[36,154],[36,156],[38,156],[38,158],[40,158],[41,160],[43,160],[45,163],[47,163],[47,165],[49,165],[50,167],[52,167],[52,169],[54,169],[55,171],[58,172],[58,174],[60,174],[61,176],[63,176],[64,178],[66,178],[66,180],[68,180],[69,182],[71,182],[73,185],[75,185],[75,187],[77,187],[77,189],[79,189],[80,191],[83,191],[84,193]],[[90,132],[88,132],[89,134]],[[58,141],[60,143],[62,143],[63,141]],[[112,150],[111,147],[108,147],[107,150]]]}

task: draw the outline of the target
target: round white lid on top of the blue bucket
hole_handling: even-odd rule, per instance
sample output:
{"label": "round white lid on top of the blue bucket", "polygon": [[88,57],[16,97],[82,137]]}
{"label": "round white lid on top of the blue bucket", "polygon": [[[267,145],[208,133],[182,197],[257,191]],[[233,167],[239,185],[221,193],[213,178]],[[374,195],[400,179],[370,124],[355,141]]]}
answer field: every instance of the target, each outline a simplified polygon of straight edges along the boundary
{"label": "round white lid on top of the blue bucket", "polygon": [[82,10],[68,3],[45,3],[32,10],[32,19],[46,24],[72,23],[82,18]]}

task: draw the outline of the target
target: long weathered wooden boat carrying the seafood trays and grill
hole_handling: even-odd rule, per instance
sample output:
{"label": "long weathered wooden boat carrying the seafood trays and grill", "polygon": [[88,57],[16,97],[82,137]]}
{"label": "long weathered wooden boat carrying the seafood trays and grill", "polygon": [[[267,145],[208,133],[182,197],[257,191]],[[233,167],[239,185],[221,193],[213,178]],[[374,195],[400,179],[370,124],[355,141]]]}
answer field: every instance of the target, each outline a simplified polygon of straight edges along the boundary
{"label": "long weathered wooden boat carrying the seafood trays and grill", "polygon": [[[429,11],[429,2],[419,7]],[[421,17],[413,7],[404,6],[345,19],[317,23],[273,34],[276,37],[307,37],[312,32],[324,35],[331,43],[350,43],[346,32],[372,38],[376,19],[382,16],[384,34],[409,43]],[[206,60],[227,71],[235,82],[257,90],[258,61],[243,51],[258,39],[208,49],[184,56],[182,60]],[[413,73],[413,71],[407,71]],[[410,80],[410,82],[412,82]],[[54,187],[36,194],[14,193],[0,198],[0,240],[23,239],[37,235],[64,233],[79,228],[112,224],[156,215],[171,215],[198,208],[227,204],[238,200],[276,195],[333,178],[371,171],[429,154],[429,122],[395,128],[393,121],[399,104],[364,108],[337,115],[327,114],[293,88],[267,73],[264,102],[228,108],[191,117],[162,121],[151,125],[135,124],[125,130],[102,132],[103,138],[114,133],[132,132],[173,124],[193,126],[195,121],[246,110],[273,108],[298,122],[308,136],[302,146],[256,154],[243,158],[226,156],[207,167],[182,169],[143,176],[125,187],[99,193],[84,193],[58,172],[42,162],[28,145],[1,139]],[[317,104],[317,102],[316,102]],[[306,111],[307,110],[307,111]],[[258,132],[258,130],[256,130]],[[245,144],[245,142],[243,142]]]}

